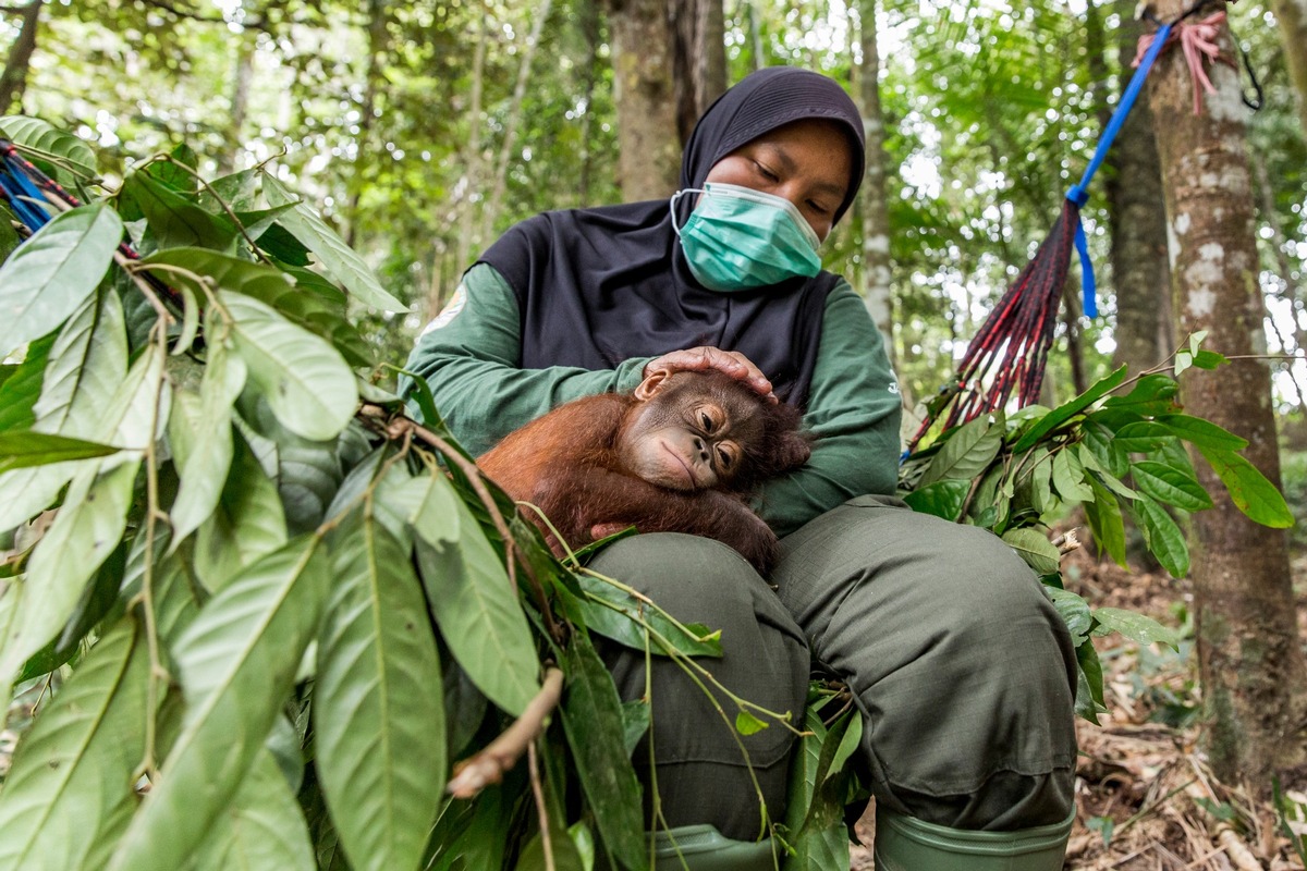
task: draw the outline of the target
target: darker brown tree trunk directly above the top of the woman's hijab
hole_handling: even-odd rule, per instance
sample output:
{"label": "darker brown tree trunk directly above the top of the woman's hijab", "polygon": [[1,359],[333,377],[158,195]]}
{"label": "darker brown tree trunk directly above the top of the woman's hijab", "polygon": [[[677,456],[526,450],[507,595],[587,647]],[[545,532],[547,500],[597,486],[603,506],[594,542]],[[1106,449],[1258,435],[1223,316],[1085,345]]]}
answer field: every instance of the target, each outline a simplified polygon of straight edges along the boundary
{"label": "darker brown tree trunk directly above the top of the woman's hijab", "polygon": [[672,82],[681,142],[694,123],[727,89],[725,21],[721,0],[668,0],[672,33]]}

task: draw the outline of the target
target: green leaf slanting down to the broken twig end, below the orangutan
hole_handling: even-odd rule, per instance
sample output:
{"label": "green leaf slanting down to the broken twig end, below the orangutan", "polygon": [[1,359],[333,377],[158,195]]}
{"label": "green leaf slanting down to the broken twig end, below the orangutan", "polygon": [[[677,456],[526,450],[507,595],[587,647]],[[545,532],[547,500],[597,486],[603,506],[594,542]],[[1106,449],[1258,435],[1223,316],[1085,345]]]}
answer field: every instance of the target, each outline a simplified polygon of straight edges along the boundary
{"label": "green leaf slanting down to the broken twig end, below the orangutan", "polygon": [[476,518],[459,505],[457,545],[417,539],[418,567],[454,658],[490,701],[520,714],[540,691],[540,662],[518,590]]}

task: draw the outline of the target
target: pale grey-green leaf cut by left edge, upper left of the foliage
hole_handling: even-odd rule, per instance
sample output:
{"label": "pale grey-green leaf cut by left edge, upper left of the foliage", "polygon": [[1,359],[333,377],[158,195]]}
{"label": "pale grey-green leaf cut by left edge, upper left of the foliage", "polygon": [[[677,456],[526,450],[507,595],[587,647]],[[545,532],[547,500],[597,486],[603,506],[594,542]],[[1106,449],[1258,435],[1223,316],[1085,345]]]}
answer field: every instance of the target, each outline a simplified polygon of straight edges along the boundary
{"label": "pale grey-green leaf cut by left edge, upper left of the foliage", "polygon": [[0,359],[59,326],[108,272],[123,222],[102,202],[56,215],[0,265]]}

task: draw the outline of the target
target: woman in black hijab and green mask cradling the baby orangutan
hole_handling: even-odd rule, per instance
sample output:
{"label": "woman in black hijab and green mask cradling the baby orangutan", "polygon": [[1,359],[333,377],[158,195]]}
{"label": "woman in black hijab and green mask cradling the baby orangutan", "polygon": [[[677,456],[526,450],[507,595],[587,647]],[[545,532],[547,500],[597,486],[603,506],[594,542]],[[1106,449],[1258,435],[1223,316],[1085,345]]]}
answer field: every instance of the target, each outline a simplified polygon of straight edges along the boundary
{"label": "woman in black hijab and green mask cradling the baby orangutan", "polygon": [[[861,119],[838,84],[755,72],[699,120],[670,204],[515,226],[467,272],[409,368],[473,453],[554,405],[659,370],[718,368],[804,409],[812,460],[759,500],[783,537],[770,578],[718,542],[676,534],[620,541],[593,568],[720,627],[725,656],[710,667],[750,701],[800,712],[810,661],[848,682],[882,870],[1060,868],[1074,654],[1010,548],[893,498],[898,385],[861,300],[817,253],[861,176]],[[609,661],[623,697],[643,696],[643,656]],[[712,867],[771,867],[765,841],[742,844],[758,838],[761,814],[736,738],[673,663],[655,662],[651,683],[668,825],[702,842]],[[792,736],[772,727],[745,744],[778,819]]]}

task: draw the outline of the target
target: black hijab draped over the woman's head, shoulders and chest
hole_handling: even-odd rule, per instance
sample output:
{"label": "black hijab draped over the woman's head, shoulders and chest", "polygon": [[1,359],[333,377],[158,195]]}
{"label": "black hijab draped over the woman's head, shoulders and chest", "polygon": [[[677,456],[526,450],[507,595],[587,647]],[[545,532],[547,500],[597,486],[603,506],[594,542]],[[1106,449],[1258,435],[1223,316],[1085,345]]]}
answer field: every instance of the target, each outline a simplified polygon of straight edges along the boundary
{"label": "black hijab draped over the woman's head, shoulders and chest", "polygon": [[[835,81],[804,69],[761,69],[712,103],[685,146],[681,188],[702,188],[731,151],[806,118],[838,121],[850,136],[852,175],[838,221],[863,179],[863,121]],[[694,200],[677,202],[678,225]],[[799,406],[808,398],[826,296],[839,281],[821,272],[767,287],[707,290],[690,274],[668,200],[546,212],[508,230],[478,262],[494,266],[516,295],[523,368],[613,368],[631,356],[710,345],[742,353],[778,396]]]}

